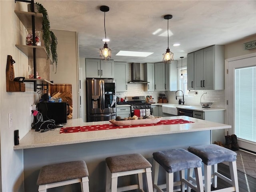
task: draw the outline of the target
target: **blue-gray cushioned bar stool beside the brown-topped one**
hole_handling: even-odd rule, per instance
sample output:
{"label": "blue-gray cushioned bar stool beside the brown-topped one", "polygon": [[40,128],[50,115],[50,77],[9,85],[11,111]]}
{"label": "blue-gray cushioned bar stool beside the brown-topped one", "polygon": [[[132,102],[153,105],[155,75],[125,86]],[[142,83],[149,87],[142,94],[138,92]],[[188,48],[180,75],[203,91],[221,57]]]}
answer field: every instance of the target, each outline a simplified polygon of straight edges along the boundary
{"label": "blue-gray cushioned bar stool beside the brown-topped one", "polygon": [[[184,150],[172,149],[165,151],[158,151],[153,153],[154,158],[154,191],[163,192],[162,189],[166,188],[166,192],[173,192],[174,186],[180,186],[182,192],[185,191],[185,184],[190,186],[196,192],[203,192],[203,178],[202,178],[202,160]],[[166,184],[158,185],[159,165],[166,171]],[[188,182],[185,179],[185,170],[194,168],[196,175],[196,185]],[[180,180],[174,182],[174,172],[180,172]]]}

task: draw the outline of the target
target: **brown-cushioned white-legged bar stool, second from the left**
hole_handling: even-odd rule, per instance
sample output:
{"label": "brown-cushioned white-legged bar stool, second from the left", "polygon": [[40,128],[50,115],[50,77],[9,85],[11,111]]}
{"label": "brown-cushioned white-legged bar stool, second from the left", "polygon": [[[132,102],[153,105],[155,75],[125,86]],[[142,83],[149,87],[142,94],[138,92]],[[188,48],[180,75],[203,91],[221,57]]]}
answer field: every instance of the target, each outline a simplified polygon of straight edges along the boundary
{"label": "brown-cushioned white-legged bar stool, second from the left", "polygon": [[[152,165],[141,154],[127,154],[106,158],[106,192],[143,190],[142,173],[146,173],[148,192],[153,192]],[[117,187],[120,176],[138,174],[139,184]]]}

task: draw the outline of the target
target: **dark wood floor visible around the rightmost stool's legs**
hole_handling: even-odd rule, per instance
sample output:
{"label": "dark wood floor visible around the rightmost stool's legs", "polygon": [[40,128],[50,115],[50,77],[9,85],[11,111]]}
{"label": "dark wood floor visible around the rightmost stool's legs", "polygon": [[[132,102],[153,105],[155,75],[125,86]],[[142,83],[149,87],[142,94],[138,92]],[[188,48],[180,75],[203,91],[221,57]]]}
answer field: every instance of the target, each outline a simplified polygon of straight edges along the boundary
{"label": "dark wood floor visible around the rightmost stool's legs", "polygon": [[[224,165],[222,163],[218,164],[218,172],[220,174],[223,174],[224,176],[230,178],[229,166]],[[238,171],[237,174],[238,174],[239,192],[256,192],[256,179],[255,178],[248,176],[240,171]],[[231,186],[231,185],[229,183],[223,181],[222,179],[218,178],[218,186],[217,186],[217,188],[212,188],[212,190],[218,190],[218,189],[226,188],[228,186]],[[193,190],[191,190],[191,191],[193,191]]]}

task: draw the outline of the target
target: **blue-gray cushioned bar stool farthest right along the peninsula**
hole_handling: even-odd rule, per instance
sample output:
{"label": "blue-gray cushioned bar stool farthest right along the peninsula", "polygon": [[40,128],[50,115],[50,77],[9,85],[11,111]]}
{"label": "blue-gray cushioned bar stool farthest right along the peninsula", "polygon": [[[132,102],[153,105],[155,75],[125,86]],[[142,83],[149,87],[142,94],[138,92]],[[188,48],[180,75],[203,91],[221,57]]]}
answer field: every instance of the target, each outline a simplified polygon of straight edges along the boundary
{"label": "blue-gray cushioned bar stool farthest right along the peninsula", "polygon": [[[224,188],[218,190],[218,192],[238,192],[238,178],[236,170],[236,153],[227,148],[218,146],[216,144],[193,146],[189,147],[188,151],[200,157],[204,163],[204,190],[205,192],[211,191],[211,179],[212,186],[217,187],[217,177],[225,180],[226,182],[232,184],[232,187]],[[231,179],[218,173],[218,163],[229,162],[229,169]],[[212,170],[211,170],[212,168]],[[212,172],[211,172],[212,171]]]}

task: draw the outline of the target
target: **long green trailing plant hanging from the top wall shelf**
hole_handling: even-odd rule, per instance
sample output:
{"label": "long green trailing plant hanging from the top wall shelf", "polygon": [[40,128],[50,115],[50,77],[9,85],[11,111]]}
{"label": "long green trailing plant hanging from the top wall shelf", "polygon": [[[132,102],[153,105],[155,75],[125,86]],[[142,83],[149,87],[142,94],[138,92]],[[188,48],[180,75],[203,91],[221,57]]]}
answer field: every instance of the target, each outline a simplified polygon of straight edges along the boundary
{"label": "long green trailing plant hanging from the top wall shelf", "polygon": [[[57,38],[54,33],[50,30],[50,21],[47,10],[42,6],[42,4],[36,2],[36,8],[38,9],[39,13],[43,14],[42,19],[42,39],[44,40],[44,47],[46,49],[46,54],[48,58],[50,58],[52,54],[52,62],[56,65],[57,72],[57,63],[58,63],[58,55],[57,55]],[[30,5],[31,7],[31,5]]]}

